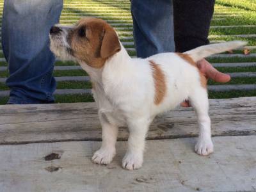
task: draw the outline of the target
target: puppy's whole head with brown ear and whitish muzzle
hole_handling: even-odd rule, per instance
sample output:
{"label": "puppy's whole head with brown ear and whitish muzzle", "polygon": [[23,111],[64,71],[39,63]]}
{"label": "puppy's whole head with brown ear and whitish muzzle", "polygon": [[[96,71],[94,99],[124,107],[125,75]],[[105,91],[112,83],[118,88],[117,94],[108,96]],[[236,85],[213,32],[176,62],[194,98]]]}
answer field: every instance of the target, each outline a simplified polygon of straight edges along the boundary
{"label": "puppy's whole head with brown ear and whitish muzzle", "polygon": [[101,68],[121,49],[115,30],[95,18],[83,18],[71,27],[53,26],[50,40],[51,51],[61,60],[83,61],[94,68]]}

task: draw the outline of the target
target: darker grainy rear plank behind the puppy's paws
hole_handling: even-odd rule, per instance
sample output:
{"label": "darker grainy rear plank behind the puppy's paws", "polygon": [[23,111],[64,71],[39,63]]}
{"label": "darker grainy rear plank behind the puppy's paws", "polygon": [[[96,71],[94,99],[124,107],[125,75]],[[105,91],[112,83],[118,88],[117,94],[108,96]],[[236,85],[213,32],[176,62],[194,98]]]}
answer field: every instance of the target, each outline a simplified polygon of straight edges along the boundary
{"label": "darker grainy rear plank behind the puppy's paws", "polygon": [[[213,136],[256,134],[256,97],[210,100]],[[157,116],[148,140],[198,134],[192,108]],[[125,127],[118,140],[127,140]],[[0,144],[100,140],[101,126],[94,103],[0,106]]]}

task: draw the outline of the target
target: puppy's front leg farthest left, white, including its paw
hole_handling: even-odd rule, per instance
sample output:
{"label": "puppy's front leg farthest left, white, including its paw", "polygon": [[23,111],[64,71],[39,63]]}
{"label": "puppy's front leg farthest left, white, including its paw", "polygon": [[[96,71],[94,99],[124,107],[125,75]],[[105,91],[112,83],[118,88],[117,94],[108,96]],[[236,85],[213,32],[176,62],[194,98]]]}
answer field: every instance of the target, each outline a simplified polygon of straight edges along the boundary
{"label": "puppy's front leg farthest left, white, including its paw", "polygon": [[98,164],[109,164],[116,154],[116,138],[118,127],[111,124],[104,113],[99,113],[100,123],[102,125],[102,145],[97,150],[92,161]]}

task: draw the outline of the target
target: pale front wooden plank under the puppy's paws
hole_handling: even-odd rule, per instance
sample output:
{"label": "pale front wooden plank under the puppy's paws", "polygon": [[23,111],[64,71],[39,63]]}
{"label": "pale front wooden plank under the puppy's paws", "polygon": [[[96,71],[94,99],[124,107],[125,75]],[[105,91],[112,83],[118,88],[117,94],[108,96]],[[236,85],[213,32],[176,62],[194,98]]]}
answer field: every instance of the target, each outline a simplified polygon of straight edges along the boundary
{"label": "pale front wooden plank under the puppy's paws", "polygon": [[[97,141],[0,145],[0,191],[255,191],[256,136],[216,137],[208,157],[195,138],[147,141],[140,170],[121,168],[126,142],[108,166],[93,164]],[[45,161],[52,152],[60,159]]]}

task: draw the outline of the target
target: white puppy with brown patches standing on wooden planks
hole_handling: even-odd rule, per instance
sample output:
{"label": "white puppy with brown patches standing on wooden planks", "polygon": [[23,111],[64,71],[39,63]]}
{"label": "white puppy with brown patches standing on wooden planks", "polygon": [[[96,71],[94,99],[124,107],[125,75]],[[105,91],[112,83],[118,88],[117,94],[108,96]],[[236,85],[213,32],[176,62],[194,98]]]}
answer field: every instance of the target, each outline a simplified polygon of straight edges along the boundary
{"label": "white puppy with brown patches standing on wooden planks", "polygon": [[53,26],[50,40],[51,51],[57,57],[77,61],[90,75],[102,125],[102,147],[93,155],[94,163],[111,163],[116,154],[118,127],[127,126],[128,149],[122,166],[127,170],[140,168],[148,126],[157,114],[176,108],[186,99],[198,118],[196,153],[207,156],[213,152],[207,79],[195,62],[246,42],[205,45],[184,53],[164,52],[145,59],[131,58],[115,30],[104,20],[90,17],[74,26]]}

